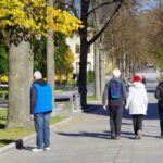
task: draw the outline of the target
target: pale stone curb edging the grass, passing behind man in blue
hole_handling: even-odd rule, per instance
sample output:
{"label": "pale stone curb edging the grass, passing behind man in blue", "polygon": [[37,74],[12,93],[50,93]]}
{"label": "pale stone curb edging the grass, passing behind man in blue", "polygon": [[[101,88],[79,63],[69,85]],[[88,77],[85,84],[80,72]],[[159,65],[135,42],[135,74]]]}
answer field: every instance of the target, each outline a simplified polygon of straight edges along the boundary
{"label": "pale stone curb edging the grass, passing behind man in blue", "polygon": [[[68,121],[72,121],[73,117],[74,117],[74,115],[65,118],[62,122],[59,122],[59,123],[57,123],[54,125],[51,125],[50,129],[55,128],[55,127],[58,127],[58,126],[60,126],[60,125],[62,125],[62,124],[64,124],[64,123],[66,123]],[[23,147],[24,142],[27,142],[28,140],[33,139],[35,136],[36,136],[36,134],[32,134],[29,136],[26,136],[26,137],[24,137],[22,139],[16,140],[15,142],[9,143],[9,145],[0,148],[0,154],[7,153],[7,152],[9,152],[9,151],[11,151],[13,149],[20,149],[21,147]]]}

